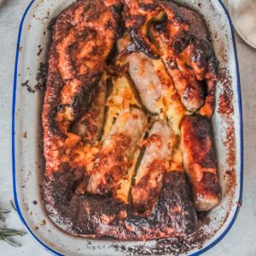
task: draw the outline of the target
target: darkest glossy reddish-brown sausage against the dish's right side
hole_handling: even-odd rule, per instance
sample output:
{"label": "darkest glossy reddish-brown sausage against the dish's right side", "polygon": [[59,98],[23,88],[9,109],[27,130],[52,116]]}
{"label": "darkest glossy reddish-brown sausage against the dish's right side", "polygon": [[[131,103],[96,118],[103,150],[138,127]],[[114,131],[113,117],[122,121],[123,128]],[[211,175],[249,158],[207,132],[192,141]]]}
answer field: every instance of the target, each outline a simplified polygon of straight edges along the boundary
{"label": "darkest glossy reddish-brown sausage against the dish's right side", "polygon": [[218,206],[221,188],[212,144],[210,122],[200,115],[186,116],[181,125],[183,164],[192,184],[197,211]]}

